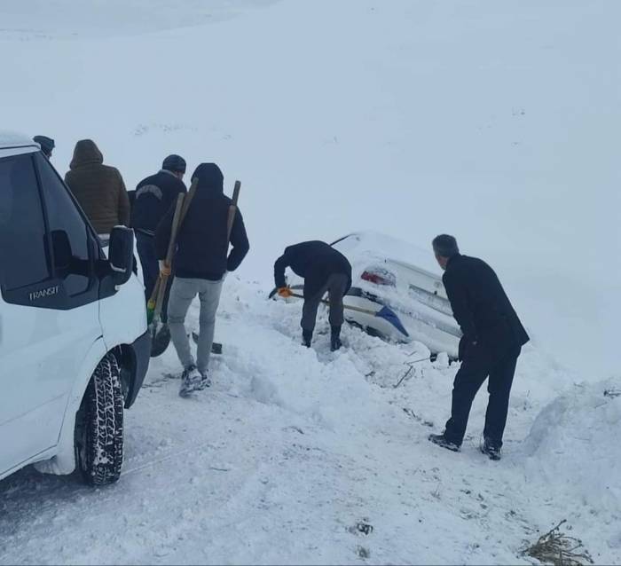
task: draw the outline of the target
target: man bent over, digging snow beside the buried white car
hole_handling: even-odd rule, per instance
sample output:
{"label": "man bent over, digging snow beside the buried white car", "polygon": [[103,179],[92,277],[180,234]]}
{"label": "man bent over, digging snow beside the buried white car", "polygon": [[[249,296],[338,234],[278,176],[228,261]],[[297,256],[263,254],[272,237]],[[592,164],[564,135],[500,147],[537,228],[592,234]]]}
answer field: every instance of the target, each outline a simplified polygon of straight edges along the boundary
{"label": "man bent over, digging snow beside the buried white car", "polygon": [[311,346],[317,311],[321,299],[328,293],[330,299],[330,349],[341,348],[343,323],[342,298],[351,287],[351,265],[341,252],[323,241],[305,241],[289,246],[274,263],[274,281],[280,296],[291,296],[285,270],[290,267],[304,278],[304,306],[302,311],[303,345]]}

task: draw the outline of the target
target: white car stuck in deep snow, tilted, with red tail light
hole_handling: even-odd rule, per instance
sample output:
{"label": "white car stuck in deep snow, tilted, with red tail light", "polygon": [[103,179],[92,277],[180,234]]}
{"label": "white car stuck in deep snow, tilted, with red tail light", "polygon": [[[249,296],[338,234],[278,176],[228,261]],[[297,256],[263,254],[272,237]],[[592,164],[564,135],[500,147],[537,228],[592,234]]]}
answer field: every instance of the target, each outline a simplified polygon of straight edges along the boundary
{"label": "white car stuck in deep snow, tilted, with red tail light", "polygon": [[[352,287],[343,299],[350,323],[369,334],[395,342],[415,340],[432,354],[457,358],[460,326],[431,250],[374,232],[353,233],[332,246],[352,267]],[[288,281],[291,287],[303,287],[295,275]]]}

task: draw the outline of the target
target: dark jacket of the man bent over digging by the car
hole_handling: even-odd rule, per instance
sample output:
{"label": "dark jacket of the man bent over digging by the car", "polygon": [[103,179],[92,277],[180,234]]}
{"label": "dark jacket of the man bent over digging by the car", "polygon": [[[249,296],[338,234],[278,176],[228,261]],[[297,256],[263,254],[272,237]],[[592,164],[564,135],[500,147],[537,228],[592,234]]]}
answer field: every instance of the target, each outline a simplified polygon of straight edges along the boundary
{"label": "dark jacket of the man bent over digging by the car", "polygon": [[317,295],[333,273],[347,275],[348,290],[351,287],[351,265],[347,257],[323,241],[305,241],[285,249],[274,263],[274,281],[278,288],[287,285],[287,267],[304,278],[304,296],[307,297]]}

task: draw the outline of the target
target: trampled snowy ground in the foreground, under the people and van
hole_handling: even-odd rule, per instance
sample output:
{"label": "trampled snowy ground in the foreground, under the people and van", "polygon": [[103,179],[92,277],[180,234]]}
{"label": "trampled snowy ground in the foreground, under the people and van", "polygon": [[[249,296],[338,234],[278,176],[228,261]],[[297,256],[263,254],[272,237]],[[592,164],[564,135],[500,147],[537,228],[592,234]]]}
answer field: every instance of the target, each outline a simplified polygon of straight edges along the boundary
{"label": "trampled snowy ground in the foreground, under the people and van", "polygon": [[597,562],[621,560],[621,397],[603,395],[619,380],[573,387],[535,421],[566,376],[526,348],[506,457],[491,462],[477,448],[483,397],[460,454],[426,439],[454,367],[415,364],[395,388],[424,347],[348,328],[332,354],[324,313],[307,350],[298,317],[230,277],[213,388],[177,397],[169,350],[128,413],[120,483],[92,491],[30,469],[0,483],[0,562],[515,563],[564,518]]}

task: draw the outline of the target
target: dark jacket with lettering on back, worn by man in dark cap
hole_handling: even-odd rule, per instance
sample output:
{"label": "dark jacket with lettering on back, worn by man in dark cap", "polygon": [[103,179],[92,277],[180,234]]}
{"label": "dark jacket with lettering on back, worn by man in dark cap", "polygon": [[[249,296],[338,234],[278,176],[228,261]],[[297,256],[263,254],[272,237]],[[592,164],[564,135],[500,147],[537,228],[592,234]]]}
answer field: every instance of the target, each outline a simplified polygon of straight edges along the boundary
{"label": "dark jacket with lettering on back, worn by man in dark cap", "polygon": [[179,193],[185,193],[184,182],[163,169],[140,181],[131,204],[131,227],[138,232],[155,233]]}

